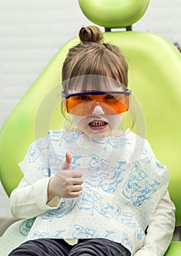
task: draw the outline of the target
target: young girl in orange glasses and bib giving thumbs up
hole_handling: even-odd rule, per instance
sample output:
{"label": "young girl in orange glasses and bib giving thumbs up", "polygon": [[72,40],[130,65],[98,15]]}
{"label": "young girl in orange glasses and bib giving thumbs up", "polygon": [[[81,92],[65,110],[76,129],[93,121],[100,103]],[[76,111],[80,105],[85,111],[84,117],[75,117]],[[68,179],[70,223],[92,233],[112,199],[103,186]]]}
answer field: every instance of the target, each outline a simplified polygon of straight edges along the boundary
{"label": "young girl in orange glasses and bib giving thumbs up", "polygon": [[9,255],[163,255],[174,231],[169,172],[147,140],[118,129],[131,104],[128,64],[96,26],[80,41],[62,69],[71,128],[36,140],[20,163],[10,203],[26,219],[6,237]]}

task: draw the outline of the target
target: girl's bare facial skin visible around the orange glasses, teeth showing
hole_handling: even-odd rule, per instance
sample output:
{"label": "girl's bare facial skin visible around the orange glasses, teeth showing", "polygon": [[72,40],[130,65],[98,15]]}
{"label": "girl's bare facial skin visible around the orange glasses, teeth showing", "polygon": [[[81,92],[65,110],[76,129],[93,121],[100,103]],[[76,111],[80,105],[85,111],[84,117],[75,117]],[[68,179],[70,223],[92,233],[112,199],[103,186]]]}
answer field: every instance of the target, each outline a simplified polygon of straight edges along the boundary
{"label": "girl's bare facial skin visible around the orange glasses, teeth showing", "polygon": [[[122,88],[113,87],[109,91],[123,91]],[[78,91],[69,91],[69,94],[77,93]],[[80,92],[80,91],[79,91]],[[90,116],[75,116],[72,115],[76,129],[85,132],[90,138],[105,138],[109,135],[114,135],[115,130],[119,126],[122,113],[115,115],[105,115],[101,105],[95,105],[91,110]]]}

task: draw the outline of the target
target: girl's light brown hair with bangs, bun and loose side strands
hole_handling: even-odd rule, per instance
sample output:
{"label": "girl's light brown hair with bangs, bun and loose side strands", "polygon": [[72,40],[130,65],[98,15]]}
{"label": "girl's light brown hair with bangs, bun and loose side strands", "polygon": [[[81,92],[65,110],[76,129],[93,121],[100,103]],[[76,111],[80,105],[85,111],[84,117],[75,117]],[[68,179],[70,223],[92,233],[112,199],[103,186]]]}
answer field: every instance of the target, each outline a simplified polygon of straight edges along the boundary
{"label": "girl's light brown hair with bangs, bun and loose side strands", "polygon": [[[63,63],[63,91],[73,90],[107,90],[114,85],[127,90],[128,64],[121,50],[112,44],[104,43],[103,33],[97,26],[82,27],[79,32],[80,43],[69,49]],[[63,116],[68,121],[66,129],[74,127],[73,121],[67,118],[63,104]],[[134,127],[134,114],[131,113]]]}

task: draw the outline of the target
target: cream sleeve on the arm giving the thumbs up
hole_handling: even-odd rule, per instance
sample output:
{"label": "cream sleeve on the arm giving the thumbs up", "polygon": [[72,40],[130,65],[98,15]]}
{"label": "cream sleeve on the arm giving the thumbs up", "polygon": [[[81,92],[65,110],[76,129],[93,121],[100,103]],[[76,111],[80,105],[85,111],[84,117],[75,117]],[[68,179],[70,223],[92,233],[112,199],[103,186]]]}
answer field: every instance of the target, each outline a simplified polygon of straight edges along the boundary
{"label": "cream sleeve on the arm giving the thumbs up", "polygon": [[54,197],[47,203],[49,180],[50,177],[41,178],[34,184],[29,184],[26,178],[23,178],[10,195],[12,216],[16,219],[31,218],[58,208],[61,197]]}

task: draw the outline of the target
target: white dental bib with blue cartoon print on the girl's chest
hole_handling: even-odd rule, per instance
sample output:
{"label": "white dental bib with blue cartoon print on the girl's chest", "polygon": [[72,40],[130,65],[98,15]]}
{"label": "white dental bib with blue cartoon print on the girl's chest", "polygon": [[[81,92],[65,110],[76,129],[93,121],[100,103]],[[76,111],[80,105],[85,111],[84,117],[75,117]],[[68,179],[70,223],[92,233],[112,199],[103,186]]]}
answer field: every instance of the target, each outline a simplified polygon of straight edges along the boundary
{"label": "white dental bib with blue cartoon print on the girl's chest", "polygon": [[155,159],[147,140],[134,132],[93,140],[65,130],[50,131],[32,143],[20,169],[34,184],[55,175],[66,152],[72,154],[70,169],[85,172],[80,197],[61,198],[58,208],[16,222],[1,238],[2,249],[10,252],[37,238],[107,238],[134,254],[166,192],[168,170]]}

